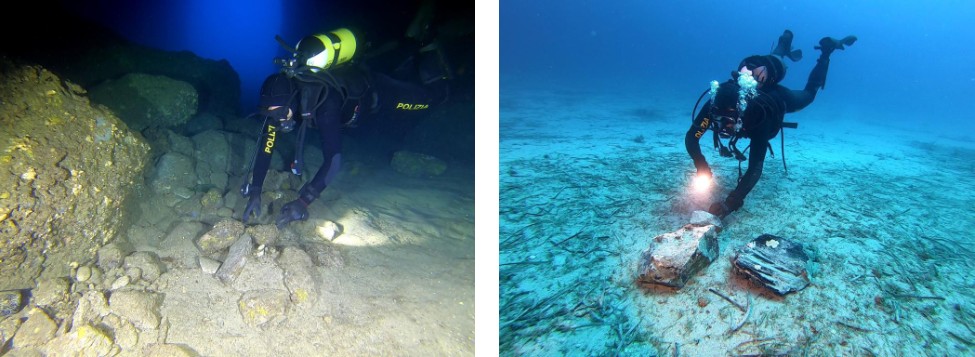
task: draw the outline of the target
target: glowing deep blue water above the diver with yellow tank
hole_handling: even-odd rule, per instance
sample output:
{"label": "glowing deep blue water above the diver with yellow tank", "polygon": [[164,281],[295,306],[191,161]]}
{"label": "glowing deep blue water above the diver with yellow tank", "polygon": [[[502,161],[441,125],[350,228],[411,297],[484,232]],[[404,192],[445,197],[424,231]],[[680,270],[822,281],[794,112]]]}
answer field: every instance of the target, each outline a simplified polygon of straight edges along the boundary
{"label": "glowing deep blue water above the diver with yellow tank", "polygon": [[[128,40],[198,56],[227,60],[240,75],[245,112],[257,105],[264,78],[278,68],[275,57],[291,53],[275,41],[294,46],[304,37],[340,27],[356,29],[363,42],[399,40],[420,1],[380,0],[96,0],[62,1]],[[454,10],[449,10],[454,11]],[[466,9],[463,11],[467,11]],[[450,17],[447,10],[437,16]],[[454,16],[467,16],[465,15]],[[363,43],[362,46],[367,46]]]}

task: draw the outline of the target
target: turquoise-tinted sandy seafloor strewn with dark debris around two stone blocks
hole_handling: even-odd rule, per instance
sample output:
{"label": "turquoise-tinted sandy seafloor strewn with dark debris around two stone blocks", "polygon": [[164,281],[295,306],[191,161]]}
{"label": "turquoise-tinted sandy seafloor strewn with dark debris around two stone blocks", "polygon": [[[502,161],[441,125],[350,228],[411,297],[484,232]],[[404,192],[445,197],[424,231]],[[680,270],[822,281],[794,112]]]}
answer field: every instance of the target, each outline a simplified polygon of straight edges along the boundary
{"label": "turquoise-tinted sandy seafloor strewn with dark debris around two stone blocks", "polygon": [[[972,133],[885,125],[820,94],[786,116],[799,122],[785,132],[788,176],[776,137],[719,258],[683,289],[651,291],[634,283],[641,252],[711,200],[687,189],[699,93],[502,84],[502,355],[975,353]],[[702,143],[723,199],[737,164],[710,133]],[[806,289],[777,297],[734,276],[734,249],[763,233],[804,245]]]}

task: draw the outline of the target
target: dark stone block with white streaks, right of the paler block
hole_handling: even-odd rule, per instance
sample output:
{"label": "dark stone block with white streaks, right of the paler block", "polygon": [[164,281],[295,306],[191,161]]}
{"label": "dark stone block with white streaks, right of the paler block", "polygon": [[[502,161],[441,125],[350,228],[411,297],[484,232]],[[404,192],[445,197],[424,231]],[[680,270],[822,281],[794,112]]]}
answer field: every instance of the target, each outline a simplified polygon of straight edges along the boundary
{"label": "dark stone block with white streaks, right of the paler block", "polygon": [[802,245],[771,234],[763,234],[737,249],[731,262],[736,273],[780,296],[809,285],[809,257]]}

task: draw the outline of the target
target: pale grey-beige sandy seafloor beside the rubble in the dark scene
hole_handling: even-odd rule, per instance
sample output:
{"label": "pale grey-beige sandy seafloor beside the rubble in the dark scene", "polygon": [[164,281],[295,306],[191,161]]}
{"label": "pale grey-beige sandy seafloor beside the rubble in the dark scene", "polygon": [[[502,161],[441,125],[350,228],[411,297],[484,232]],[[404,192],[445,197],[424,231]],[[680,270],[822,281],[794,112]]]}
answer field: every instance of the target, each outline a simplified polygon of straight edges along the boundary
{"label": "pale grey-beige sandy seafloor beside the rubble in the dark scene", "polygon": [[[327,242],[342,263],[315,267],[317,300],[249,326],[238,311],[242,291],[287,291],[276,254],[251,254],[232,284],[170,265],[156,284],[165,294],[160,342],[202,356],[472,355],[473,169],[453,165],[438,177],[411,178],[381,155],[346,156],[309,219],[285,228],[307,241],[322,240],[310,232],[324,220],[343,228]],[[154,251],[159,243],[132,244]]]}

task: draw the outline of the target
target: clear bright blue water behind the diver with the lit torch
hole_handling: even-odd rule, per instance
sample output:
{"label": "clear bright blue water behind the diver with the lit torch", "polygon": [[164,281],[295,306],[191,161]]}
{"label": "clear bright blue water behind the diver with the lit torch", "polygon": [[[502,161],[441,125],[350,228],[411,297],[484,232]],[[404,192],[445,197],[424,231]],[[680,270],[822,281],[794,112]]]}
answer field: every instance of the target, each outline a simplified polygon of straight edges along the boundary
{"label": "clear bright blue water behind the diver with the lit torch", "polygon": [[688,97],[767,54],[785,29],[804,52],[782,82],[805,84],[820,38],[856,35],[833,55],[817,101],[868,109],[895,125],[971,132],[975,5],[966,1],[501,1],[501,90],[516,82]]}

